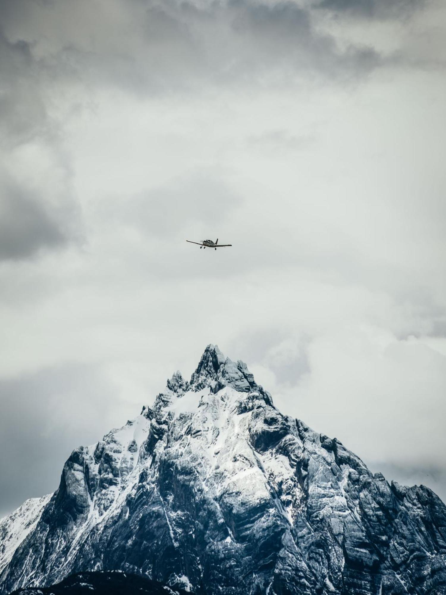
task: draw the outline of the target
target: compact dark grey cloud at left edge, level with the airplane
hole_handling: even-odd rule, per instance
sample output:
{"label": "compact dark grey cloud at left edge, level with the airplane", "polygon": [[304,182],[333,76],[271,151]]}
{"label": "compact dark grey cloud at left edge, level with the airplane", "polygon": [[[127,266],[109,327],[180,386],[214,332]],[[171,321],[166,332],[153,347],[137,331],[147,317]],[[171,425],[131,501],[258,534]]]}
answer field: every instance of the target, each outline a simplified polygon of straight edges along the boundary
{"label": "compact dark grey cloud at left edge, level with the airplane", "polygon": [[0,260],[29,258],[68,242],[68,232],[33,193],[12,180],[0,189]]}

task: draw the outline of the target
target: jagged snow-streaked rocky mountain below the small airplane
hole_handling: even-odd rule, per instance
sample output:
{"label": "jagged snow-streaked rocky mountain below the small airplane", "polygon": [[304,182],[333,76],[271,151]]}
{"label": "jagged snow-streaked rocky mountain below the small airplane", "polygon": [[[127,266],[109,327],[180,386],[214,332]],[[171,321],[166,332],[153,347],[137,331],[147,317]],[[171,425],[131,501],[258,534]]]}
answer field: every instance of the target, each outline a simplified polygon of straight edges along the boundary
{"label": "jagged snow-streaked rocky mountain below the small airplane", "polygon": [[446,594],[441,500],[282,415],[212,345],[190,383],[74,450],[37,516],[1,550],[1,593],[121,570],[206,595]]}

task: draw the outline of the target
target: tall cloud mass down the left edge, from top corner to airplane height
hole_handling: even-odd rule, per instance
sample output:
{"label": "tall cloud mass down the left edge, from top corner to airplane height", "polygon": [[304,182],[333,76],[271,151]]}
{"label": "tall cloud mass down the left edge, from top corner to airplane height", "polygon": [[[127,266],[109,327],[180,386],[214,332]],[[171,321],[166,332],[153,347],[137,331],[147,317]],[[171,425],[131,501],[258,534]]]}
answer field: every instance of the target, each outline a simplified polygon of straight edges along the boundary
{"label": "tall cloud mass down the left edge, from top corner to airplane height", "polygon": [[[36,58],[33,39],[8,39],[1,26],[11,15],[18,16],[10,4],[0,4],[0,260],[61,248],[73,239],[79,223],[59,124],[49,114],[67,79],[48,59]],[[33,146],[33,158],[26,164],[19,156],[22,146]],[[58,184],[64,178],[59,197],[46,196],[42,167],[49,169],[49,176],[54,171]]]}

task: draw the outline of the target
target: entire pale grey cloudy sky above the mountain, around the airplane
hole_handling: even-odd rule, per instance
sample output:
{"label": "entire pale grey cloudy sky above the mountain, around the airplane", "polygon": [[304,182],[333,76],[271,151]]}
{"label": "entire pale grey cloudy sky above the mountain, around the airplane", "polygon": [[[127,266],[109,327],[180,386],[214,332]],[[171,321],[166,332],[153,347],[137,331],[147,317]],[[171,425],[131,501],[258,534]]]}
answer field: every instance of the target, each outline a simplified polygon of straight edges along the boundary
{"label": "entire pale grey cloudy sky above the mountain, around the airplane", "polygon": [[445,33],[443,0],[0,0],[0,513],[208,343],[446,498]]}

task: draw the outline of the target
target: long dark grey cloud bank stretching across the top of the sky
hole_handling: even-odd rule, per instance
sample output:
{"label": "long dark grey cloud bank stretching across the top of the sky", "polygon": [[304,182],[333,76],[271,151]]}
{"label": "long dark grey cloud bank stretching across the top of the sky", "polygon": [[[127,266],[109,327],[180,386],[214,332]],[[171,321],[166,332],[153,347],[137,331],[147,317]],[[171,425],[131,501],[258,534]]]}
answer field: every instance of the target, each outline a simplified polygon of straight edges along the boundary
{"label": "long dark grey cloud bank stretching across the top of the sky", "polygon": [[[26,123],[32,130],[48,117],[39,98],[42,76],[62,86],[111,85],[144,93],[189,88],[204,79],[262,83],[267,76],[270,84],[289,83],[306,71],[330,79],[362,76],[382,62],[368,46],[341,49],[319,30],[310,10],[288,0],[201,7],[152,0],[118,3],[107,11],[89,5],[85,14],[80,5],[73,23],[70,3],[20,5],[21,21],[17,10],[5,12],[2,37],[9,87],[3,109],[17,130]],[[124,21],[117,7],[125,12]],[[33,102],[24,93],[24,80],[26,89],[34,87]]]}

